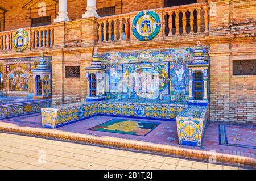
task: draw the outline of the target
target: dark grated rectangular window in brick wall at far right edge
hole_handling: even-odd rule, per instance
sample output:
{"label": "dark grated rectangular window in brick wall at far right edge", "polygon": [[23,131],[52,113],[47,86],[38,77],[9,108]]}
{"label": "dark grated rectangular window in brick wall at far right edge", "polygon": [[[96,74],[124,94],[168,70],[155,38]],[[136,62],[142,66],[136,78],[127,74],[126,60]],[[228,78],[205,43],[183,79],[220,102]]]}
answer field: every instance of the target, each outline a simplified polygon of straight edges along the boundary
{"label": "dark grated rectangular window in brick wall at far right edge", "polygon": [[256,75],[256,60],[233,60],[233,75]]}

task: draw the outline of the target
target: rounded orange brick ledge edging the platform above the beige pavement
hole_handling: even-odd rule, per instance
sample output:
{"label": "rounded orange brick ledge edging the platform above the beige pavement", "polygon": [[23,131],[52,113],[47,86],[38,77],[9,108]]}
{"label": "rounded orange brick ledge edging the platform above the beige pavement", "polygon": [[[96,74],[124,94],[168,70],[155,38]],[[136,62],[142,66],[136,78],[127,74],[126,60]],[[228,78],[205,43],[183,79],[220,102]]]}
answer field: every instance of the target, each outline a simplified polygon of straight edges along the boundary
{"label": "rounded orange brick ledge edging the platform above the beige pavement", "polygon": [[[5,124],[5,123],[3,123]],[[21,134],[24,136],[34,136],[40,138],[49,138],[59,141],[70,141],[70,142],[77,142],[80,144],[92,144],[92,145],[102,145],[108,146],[112,148],[119,148],[119,149],[130,149],[130,150],[139,150],[139,151],[146,151],[151,153],[157,154],[164,154],[164,155],[172,155],[175,157],[183,157],[189,159],[196,159],[199,161],[209,161],[213,154],[211,150],[206,149],[198,149],[198,148],[188,148],[188,146],[172,146],[172,145],[162,145],[162,144],[155,144],[150,142],[144,141],[136,141],[136,140],[126,140],[123,138],[116,138],[116,137],[109,137],[109,136],[92,136],[92,135],[85,135],[79,133],[68,133],[58,130],[52,129],[40,129],[40,128],[18,128],[18,127],[10,127],[6,125],[0,126],[0,132],[4,133],[15,133]],[[221,151],[221,150],[217,150]],[[225,151],[226,152],[226,151]],[[232,152],[233,153],[233,152]],[[217,163],[224,163],[224,164],[231,164],[237,166],[246,166],[251,168],[256,168],[256,159],[252,157],[252,154],[246,153],[239,153],[239,154],[230,154],[228,153],[216,153],[216,162]],[[243,155],[243,156],[241,156]]]}

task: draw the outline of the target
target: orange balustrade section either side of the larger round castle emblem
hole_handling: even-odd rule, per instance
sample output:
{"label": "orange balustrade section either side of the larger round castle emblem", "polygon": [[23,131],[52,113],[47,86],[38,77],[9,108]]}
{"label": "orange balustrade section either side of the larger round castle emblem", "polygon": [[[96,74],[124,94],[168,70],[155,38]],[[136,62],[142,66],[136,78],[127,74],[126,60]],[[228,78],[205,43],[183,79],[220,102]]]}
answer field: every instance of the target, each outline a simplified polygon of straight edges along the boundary
{"label": "orange balustrade section either side of the larger round castle emblem", "polygon": [[[162,16],[162,32],[158,36],[193,35],[208,33],[209,7],[207,3],[195,3],[152,9]],[[131,24],[139,11],[98,18],[98,43],[135,39],[131,36]],[[192,27],[192,28],[191,28]]]}

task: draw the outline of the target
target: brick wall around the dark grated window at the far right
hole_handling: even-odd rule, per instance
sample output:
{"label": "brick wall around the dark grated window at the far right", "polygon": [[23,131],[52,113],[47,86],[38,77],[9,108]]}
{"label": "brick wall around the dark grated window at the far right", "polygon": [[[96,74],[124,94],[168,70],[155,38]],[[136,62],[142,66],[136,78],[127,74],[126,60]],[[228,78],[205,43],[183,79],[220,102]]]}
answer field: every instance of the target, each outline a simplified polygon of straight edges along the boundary
{"label": "brick wall around the dark grated window at the far right", "polygon": [[233,75],[233,60],[256,60],[253,40],[231,44],[229,121],[256,123],[256,76]]}

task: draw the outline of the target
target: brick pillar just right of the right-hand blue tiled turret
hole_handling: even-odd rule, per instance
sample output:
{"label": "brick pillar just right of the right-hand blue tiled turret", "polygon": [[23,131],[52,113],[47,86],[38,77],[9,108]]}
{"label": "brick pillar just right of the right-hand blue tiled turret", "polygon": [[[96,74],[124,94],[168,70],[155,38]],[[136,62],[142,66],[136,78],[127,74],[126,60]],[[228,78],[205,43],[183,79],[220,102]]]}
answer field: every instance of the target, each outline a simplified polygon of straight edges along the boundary
{"label": "brick pillar just right of the right-hand blue tiled turret", "polygon": [[229,43],[210,44],[210,120],[229,121]]}

